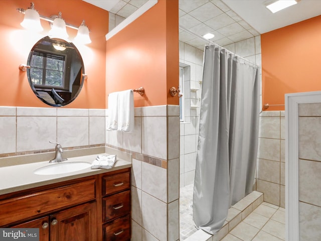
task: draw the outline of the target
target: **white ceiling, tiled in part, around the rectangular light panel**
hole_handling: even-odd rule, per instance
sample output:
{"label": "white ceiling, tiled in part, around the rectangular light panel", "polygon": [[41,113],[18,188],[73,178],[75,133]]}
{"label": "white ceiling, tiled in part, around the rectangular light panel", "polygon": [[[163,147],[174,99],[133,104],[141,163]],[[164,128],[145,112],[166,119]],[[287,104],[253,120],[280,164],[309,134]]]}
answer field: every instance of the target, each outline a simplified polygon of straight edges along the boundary
{"label": "white ceiling, tiled in part, around the rectangular light panel", "polygon": [[[83,0],[127,18],[148,0]],[[279,29],[321,14],[321,0],[301,0],[272,14],[266,0],[179,0],[180,41],[204,49],[202,36],[213,33],[211,41],[225,46]],[[271,0],[268,0],[271,2]]]}

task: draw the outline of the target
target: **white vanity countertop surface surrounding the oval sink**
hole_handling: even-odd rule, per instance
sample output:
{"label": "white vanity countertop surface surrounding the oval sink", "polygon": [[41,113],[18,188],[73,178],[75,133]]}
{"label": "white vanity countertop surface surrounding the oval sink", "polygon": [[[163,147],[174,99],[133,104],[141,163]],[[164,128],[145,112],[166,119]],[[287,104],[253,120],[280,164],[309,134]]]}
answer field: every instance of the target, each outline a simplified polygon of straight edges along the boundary
{"label": "white vanity countertop surface surrounding the oval sink", "polygon": [[[68,160],[64,162],[88,162],[91,164],[95,160],[97,155],[98,154],[72,157],[68,158]],[[49,163],[49,161],[45,161],[0,167],[0,195],[29,188],[44,186],[48,184],[58,183],[62,181],[72,180],[80,177],[87,177],[100,173],[106,173],[119,169],[129,168],[131,167],[131,162],[120,159],[117,156],[117,161],[111,169],[91,169],[90,167],[88,167],[80,171],[63,174],[34,174],[34,171],[36,169],[48,165],[56,165],[56,163]]]}

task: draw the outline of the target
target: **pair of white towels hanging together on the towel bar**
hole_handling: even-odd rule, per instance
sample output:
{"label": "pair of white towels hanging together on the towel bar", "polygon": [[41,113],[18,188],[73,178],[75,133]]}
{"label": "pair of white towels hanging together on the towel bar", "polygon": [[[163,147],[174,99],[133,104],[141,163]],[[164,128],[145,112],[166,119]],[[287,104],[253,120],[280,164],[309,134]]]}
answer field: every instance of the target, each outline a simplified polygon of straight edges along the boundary
{"label": "pair of white towels hanging together on the towel bar", "polygon": [[134,96],[131,89],[108,95],[107,129],[131,132],[134,127]]}

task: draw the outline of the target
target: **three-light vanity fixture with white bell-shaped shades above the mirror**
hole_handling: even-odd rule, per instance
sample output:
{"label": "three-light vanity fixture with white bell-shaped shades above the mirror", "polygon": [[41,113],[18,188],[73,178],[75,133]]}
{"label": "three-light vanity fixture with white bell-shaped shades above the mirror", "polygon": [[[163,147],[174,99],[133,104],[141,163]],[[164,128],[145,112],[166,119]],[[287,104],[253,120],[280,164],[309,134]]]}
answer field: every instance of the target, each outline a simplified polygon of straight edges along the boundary
{"label": "three-light vanity fixture with white bell-shaped shades above the mirror", "polygon": [[30,8],[27,10],[24,10],[22,8],[17,9],[19,13],[25,14],[24,21],[21,23],[21,25],[32,31],[43,31],[43,28],[40,23],[40,19],[48,21],[52,29],[49,31],[49,36],[51,38],[61,38],[64,40],[68,39],[68,34],[66,31],[66,27],[76,29],[78,30],[77,36],[75,38],[75,41],[77,43],[81,44],[89,44],[91,43],[90,37],[89,37],[89,29],[85,25],[85,21],[82,21],[82,24],[79,26],[71,25],[66,23],[62,17],[61,13],[59,12],[58,16],[54,16],[56,18],[49,18],[46,16],[39,15],[39,13],[35,10],[35,5],[34,3],[31,3]]}

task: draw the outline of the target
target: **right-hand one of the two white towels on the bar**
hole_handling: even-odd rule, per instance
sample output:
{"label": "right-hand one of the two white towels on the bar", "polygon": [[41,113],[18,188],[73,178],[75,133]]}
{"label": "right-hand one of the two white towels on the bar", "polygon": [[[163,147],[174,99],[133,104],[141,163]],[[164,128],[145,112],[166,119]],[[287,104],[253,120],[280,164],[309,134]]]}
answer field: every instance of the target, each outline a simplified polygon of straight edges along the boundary
{"label": "right-hand one of the two white towels on the bar", "polygon": [[118,131],[131,132],[134,126],[134,95],[131,89],[118,92]]}

